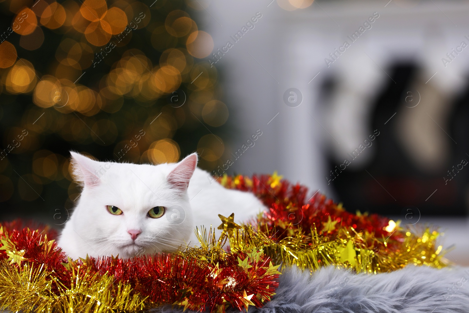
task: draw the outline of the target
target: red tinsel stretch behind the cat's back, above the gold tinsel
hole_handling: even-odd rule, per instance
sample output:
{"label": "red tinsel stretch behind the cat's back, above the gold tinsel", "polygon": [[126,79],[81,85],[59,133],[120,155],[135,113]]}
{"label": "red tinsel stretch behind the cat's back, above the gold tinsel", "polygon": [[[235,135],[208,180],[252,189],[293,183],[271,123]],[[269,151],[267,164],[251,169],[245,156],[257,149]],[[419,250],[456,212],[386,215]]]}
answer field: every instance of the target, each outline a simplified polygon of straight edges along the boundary
{"label": "red tinsel stretch behind the cat's back, above the gold tinsel", "polygon": [[[349,213],[321,193],[316,192],[308,197],[307,187],[280,179],[281,176],[275,175],[253,175],[252,179],[239,175],[220,177],[218,181],[227,188],[249,191],[257,195],[268,207],[265,219],[262,220],[269,226],[285,228],[282,226],[287,223],[296,229],[310,229],[314,225],[322,228],[330,216],[332,221],[337,221],[340,226],[353,227],[357,232],[373,232],[376,237],[389,236],[390,232],[385,230],[390,221],[388,218],[378,214]],[[337,230],[338,228],[333,229],[324,235],[333,237]],[[401,233],[392,236],[393,239],[402,237]]]}

